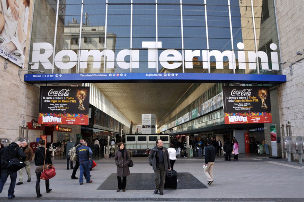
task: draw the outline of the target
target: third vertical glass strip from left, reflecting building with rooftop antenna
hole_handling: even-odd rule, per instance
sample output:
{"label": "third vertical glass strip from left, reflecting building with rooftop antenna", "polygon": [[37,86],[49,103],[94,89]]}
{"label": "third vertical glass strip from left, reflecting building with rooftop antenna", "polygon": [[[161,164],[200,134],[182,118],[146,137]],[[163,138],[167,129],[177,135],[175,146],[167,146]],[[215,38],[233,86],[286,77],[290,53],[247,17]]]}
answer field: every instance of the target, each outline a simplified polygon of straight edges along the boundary
{"label": "third vertical glass strip from left, reflecting building with rooftop antenna", "polygon": [[[84,1],[81,32],[81,50],[83,52],[80,55],[80,73],[103,72],[104,57],[100,56],[101,53],[95,53],[95,55],[93,56],[93,54],[88,53],[88,51],[98,50],[99,52],[102,52],[104,50],[105,8],[105,1]],[[112,38],[107,39],[107,43],[108,41],[110,44],[113,43]],[[97,63],[93,63],[93,60],[100,60],[100,62],[98,61]]]}

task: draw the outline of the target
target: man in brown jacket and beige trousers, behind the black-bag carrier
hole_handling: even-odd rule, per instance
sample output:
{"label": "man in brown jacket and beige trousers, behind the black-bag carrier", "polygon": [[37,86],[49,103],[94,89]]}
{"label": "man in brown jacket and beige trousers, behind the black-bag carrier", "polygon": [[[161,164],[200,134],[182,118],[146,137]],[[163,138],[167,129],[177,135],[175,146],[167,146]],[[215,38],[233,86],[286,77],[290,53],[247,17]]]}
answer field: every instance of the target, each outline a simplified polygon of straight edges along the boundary
{"label": "man in brown jacket and beige trousers, behind the black-bag carrier", "polygon": [[[22,150],[26,156],[24,163],[26,164],[25,171],[27,174],[27,182],[30,182],[31,181],[31,166],[29,164],[33,160],[34,152],[33,152],[33,149],[27,145],[26,141],[22,142]],[[23,184],[23,168],[21,168],[19,170],[19,182],[16,185],[20,185],[20,184]]]}

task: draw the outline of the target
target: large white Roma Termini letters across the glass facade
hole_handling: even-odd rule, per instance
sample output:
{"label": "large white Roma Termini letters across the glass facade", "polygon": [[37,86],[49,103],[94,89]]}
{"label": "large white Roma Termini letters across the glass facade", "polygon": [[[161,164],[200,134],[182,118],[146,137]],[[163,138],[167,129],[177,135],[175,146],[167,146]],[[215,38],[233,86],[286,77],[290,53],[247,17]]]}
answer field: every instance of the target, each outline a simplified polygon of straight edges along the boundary
{"label": "large white Roma Termini letters across the glass facade", "polygon": [[[156,46],[156,42],[154,41],[143,41],[142,48],[148,49],[148,68],[149,69],[156,69],[157,68],[157,53],[161,50],[157,50],[157,48],[161,48],[162,43],[158,42]],[[244,50],[244,43],[238,43],[237,47],[239,50],[232,51],[232,50],[225,50],[223,52],[219,50],[185,50],[185,69],[193,69],[193,57],[200,57],[202,56],[202,68],[209,69],[210,68],[210,57],[215,57],[216,60],[216,69],[223,69],[223,57],[228,57],[229,60],[229,69],[236,69],[236,56],[235,52],[238,55],[238,64],[239,69],[245,70],[246,69],[246,62],[249,63],[249,69],[256,70],[256,60],[260,58],[261,60],[261,69],[268,70],[269,66],[268,63],[268,56],[264,51],[248,51],[247,57],[248,61],[245,60],[245,51]],[[271,43],[270,45],[271,50],[276,50],[277,45]],[[35,64],[32,66],[32,70],[39,69],[39,63],[45,69],[53,69],[53,65],[50,62],[49,58],[53,54],[53,46],[50,43],[33,43],[33,51],[32,51],[32,62]],[[272,70],[279,70],[279,63],[278,63],[278,53],[277,52],[270,52],[271,54],[271,63],[272,63]],[[63,61],[63,58],[68,56],[70,59],[69,61]],[[93,56],[93,69],[100,69],[102,56],[106,57],[107,69],[114,69],[115,63],[115,53],[113,50],[105,49],[103,51],[99,50],[80,50],[80,69],[87,68],[88,57]],[[131,63],[125,61],[125,57],[130,56]],[[147,60],[147,59],[145,59]],[[67,70],[73,68],[78,61],[78,56],[73,50],[61,50],[55,55],[54,63],[59,69]],[[122,69],[130,69],[130,64],[132,64],[132,69],[139,69],[140,68],[140,50],[129,50],[123,49],[117,53],[116,56],[116,63]],[[175,62],[172,62],[175,61]],[[166,69],[176,69],[182,65],[183,56],[178,50],[174,49],[167,49],[160,52],[159,55],[159,62],[160,64]],[[113,76],[119,76],[119,74],[113,74]],[[168,74],[168,76],[170,76]]]}

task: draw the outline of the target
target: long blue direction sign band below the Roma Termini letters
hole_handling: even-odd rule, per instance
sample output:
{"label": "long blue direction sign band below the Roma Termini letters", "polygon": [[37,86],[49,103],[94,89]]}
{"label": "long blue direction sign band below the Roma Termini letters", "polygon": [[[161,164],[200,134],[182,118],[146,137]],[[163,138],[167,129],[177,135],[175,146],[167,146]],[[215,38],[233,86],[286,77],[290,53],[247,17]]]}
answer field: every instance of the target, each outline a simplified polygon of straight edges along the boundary
{"label": "long blue direction sign band below the Roma Termini letters", "polygon": [[282,84],[285,75],[207,73],[84,73],[25,74],[30,84],[47,83],[243,83]]}

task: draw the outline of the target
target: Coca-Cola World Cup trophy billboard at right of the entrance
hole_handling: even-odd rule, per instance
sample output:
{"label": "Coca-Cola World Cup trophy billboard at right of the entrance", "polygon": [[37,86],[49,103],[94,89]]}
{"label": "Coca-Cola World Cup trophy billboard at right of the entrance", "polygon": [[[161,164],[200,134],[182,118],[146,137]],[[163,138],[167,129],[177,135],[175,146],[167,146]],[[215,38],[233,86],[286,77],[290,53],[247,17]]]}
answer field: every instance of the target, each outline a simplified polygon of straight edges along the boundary
{"label": "Coca-Cola World Cup trophy billboard at right of the entrance", "polygon": [[225,124],[271,123],[269,87],[223,87]]}

